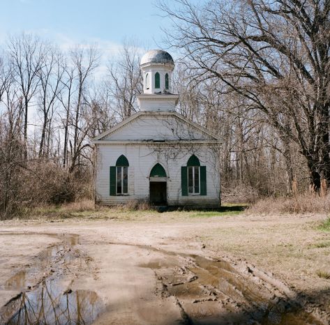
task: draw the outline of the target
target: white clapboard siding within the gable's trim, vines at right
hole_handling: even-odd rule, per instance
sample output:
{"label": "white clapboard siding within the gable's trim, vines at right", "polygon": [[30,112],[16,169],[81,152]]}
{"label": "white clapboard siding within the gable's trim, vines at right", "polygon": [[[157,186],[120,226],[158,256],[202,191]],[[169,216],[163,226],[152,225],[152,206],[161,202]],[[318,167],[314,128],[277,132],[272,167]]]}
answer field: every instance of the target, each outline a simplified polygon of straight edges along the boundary
{"label": "white clapboard siding within the gable's trim, vines at right", "polygon": [[193,140],[212,139],[174,115],[137,116],[128,125],[110,133],[103,140]]}

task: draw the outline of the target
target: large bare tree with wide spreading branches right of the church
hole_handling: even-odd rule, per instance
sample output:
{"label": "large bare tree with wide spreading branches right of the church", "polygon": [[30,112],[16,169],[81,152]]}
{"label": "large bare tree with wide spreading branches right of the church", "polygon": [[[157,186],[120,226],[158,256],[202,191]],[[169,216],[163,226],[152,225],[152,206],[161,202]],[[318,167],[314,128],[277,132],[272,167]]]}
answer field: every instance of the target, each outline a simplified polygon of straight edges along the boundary
{"label": "large bare tree with wide spreading branches right of the church", "polygon": [[330,2],[176,3],[160,3],[177,30],[167,40],[184,50],[195,77],[246,98],[285,143],[299,146],[311,186],[329,183]]}

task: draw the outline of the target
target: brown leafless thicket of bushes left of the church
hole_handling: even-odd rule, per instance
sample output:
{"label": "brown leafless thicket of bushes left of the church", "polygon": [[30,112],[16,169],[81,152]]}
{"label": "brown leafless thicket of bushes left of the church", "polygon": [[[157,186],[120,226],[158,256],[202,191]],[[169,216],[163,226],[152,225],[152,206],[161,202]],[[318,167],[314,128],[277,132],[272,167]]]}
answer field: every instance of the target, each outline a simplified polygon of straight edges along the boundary
{"label": "brown leafless thicket of bushes left of the church", "polygon": [[[93,181],[89,169],[70,174],[55,162],[33,160],[16,166],[6,187],[0,186],[0,219],[27,214],[37,206],[77,201],[80,209],[85,209],[82,202],[92,199]],[[90,207],[90,203],[87,205]]]}

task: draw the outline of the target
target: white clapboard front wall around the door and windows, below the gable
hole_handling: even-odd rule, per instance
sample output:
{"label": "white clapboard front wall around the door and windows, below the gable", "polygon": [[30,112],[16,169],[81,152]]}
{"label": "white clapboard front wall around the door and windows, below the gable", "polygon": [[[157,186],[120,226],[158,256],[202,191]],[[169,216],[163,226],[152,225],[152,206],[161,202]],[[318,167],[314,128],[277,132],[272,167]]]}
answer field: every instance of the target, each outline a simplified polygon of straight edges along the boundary
{"label": "white clapboard front wall around the door and windows, below the gable", "polygon": [[[181,166],[195,153],[202,166],[207,166],[207,195],[181,195]],[[110,166],[125,155],[128,167],[128,195],[110,196]],[[169,205],[217,206],[220,202],[218,159],[208,146],[96,145],[96,199],[102,204],[120,204],[133,199],[149,199],[149,174],[157,162],[167,172]]]}

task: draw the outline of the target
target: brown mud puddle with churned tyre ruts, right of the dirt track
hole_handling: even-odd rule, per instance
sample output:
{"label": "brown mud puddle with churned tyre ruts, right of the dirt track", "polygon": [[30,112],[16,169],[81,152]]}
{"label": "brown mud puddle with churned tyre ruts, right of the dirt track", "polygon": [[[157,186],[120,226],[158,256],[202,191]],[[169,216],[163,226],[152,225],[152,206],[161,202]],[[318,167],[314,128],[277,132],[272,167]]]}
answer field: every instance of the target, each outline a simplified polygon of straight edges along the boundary
{"label": "brown mud puddle with churned tyre ruts, right of the dirt track", "polygon": [[[150,249],[146,247],[146,249]],[[156,294],[174,297],[184,324],[324,324],[282,282],[248,266],[198,255],[166,255],[141,265],[155,272]]]}

